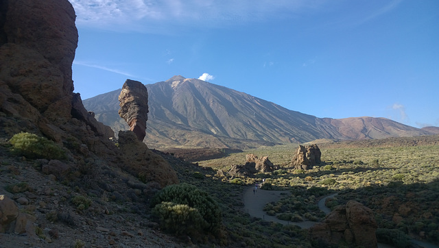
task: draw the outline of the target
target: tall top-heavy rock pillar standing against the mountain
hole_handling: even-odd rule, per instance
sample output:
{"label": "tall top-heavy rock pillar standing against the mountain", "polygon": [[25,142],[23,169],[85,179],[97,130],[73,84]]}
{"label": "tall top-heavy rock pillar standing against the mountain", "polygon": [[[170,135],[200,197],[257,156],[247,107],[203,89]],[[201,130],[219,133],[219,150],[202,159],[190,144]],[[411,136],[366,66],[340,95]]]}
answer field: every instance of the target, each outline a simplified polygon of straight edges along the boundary
{"label": "tall top-heavy rock pillar standing against the mountain", "polygon": [[138,81],[127,79],[119,95],[119,115],[128,123],[130,130],[139,141],[145,138],[146,121],[148,119],[148,92]]}

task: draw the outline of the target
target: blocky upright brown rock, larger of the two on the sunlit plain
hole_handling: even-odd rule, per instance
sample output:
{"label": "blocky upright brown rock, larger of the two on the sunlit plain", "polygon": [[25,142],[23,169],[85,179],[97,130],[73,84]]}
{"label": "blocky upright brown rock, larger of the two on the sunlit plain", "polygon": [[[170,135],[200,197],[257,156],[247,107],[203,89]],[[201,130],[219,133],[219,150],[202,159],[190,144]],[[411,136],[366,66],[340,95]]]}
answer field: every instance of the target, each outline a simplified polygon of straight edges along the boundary
{"label": "blocky upright brown rock, larger of the two on the sunlit plain", "polygon": [[322,156],[322,153],[316,144],[307,145],[306,147],[299,145],[296,155],[292,159],[292,166],[294,169],[312,169],[313,166],[322,162],[320,156]]}

